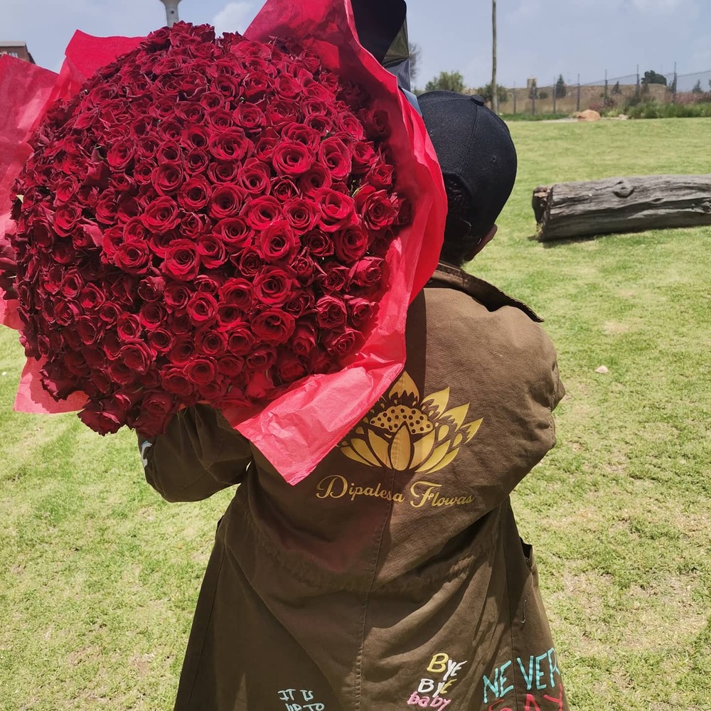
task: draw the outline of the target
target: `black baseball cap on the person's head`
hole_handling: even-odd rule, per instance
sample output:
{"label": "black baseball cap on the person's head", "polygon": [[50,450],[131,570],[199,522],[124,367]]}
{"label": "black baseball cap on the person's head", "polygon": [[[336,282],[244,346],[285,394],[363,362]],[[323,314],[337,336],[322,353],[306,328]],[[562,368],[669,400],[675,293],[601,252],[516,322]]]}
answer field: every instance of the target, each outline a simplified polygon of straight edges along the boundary
{"label": "black baseball cap on the person's head", "polygon": [[508,127],[481,96],[431,91],[417,98],[442,175],[456,178],[469,196],[469,234],[483,237],[516,179],[516,149]]}

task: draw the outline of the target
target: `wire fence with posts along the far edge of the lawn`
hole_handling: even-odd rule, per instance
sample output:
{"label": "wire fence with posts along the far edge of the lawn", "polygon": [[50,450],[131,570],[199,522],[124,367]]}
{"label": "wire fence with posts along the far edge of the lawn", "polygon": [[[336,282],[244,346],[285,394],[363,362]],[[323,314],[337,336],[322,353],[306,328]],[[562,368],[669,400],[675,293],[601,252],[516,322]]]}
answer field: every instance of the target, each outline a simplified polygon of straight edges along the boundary
{"label": "wire fence with posts along the far edge of the lawn", "polygon": [[501,114],[564,114],[594,109],[624,112],[641,102],[690,104],[711,102],[711,70],[691,74],[646,72],[605,77],[582,84],[579,76],[553,77],[540,84],[533,77],[525,87],[499,87]]}

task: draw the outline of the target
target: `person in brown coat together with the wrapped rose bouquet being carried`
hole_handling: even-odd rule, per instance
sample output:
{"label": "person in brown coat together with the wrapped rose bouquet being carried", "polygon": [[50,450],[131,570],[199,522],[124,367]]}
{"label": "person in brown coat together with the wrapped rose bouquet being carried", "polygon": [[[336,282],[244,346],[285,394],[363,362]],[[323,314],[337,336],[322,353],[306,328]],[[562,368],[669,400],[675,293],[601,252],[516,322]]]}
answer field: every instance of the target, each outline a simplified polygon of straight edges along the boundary
{"label": "person in brown coat together with the wrapped rose bouquet being carried", "polygon": [[555,351],[461,270],[515,149],[478,97],[422,122],[387,7],[0,58],[16,409],[136,429],[169,501],[239,485],[178,711],[567,708],[509,501],[555,444]]}

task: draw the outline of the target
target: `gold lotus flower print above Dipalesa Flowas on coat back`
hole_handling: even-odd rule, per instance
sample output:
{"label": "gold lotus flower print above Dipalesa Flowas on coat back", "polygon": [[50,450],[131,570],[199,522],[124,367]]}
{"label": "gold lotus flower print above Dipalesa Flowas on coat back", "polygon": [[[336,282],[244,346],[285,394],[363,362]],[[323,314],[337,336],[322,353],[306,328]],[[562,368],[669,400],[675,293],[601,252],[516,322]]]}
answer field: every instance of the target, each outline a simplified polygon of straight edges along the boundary
{"label": "gold lotus flower print above Dipalesa Flowas on coat back", "polygon": [[339,447],[349,459],[395,471],[429,474],[449,464],[474,437],[483,418],[464,422],[469,403],[452,407],[449,387],[421,397],[402,372]]}

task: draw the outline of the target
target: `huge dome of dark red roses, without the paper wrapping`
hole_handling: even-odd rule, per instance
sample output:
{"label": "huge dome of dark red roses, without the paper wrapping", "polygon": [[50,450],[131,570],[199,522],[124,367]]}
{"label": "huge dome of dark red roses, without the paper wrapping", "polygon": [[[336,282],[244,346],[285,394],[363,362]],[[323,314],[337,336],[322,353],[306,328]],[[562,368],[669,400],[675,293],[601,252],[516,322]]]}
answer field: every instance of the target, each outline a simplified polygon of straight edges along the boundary
{"label": "huge dome of dark red roses, without the paper wrapping", "polygon": [[44,387],[84,392],[97,432],[153,436],[181,407],[341,368],[410,220],[389,133],[293,44],[178,23],[102,68],[50,109],[14,186],[4,279]]}

